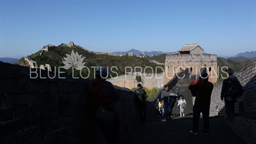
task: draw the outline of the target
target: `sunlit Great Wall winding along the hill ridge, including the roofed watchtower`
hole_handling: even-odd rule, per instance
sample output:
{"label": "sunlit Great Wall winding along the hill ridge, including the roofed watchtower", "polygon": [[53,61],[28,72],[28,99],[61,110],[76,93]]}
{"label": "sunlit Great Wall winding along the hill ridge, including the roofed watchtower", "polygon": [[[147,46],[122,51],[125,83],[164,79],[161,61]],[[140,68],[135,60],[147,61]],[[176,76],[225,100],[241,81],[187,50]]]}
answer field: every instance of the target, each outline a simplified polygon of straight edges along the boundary
{"label": "sunlit Great Wall winding along the hill ridge, including the roofed watchtower", "polygon": [[[75,45],[74,42],[69,42],[69,44],[61,44],[62,46],[67,47],[81,47],[79,45]],[[51,51],[51,49],[54,49],[56,47],[55,45],[45,45],[38,56],[41,56],[43,52]],[[81,47],[81,49],[84,49],[85,51],[89,51],[88,49],[85,49],[84,47]],[[108,52],[94,52],[95,54],[109,54]],[[124,56],[125,54],[109,54],[111,56]],[[132,52],[129,52],[127,54],[128,56],[136,56]],[[137,56],[140,58],[147,57],[146,54],[142,53],[140,56]],[[35,61],[31,60],[30,58],[25,58],[26,61],[28,61],[30,67],[36,67],[41,68],[44,70],[51,71],[51,65],[45,64],[45,65],[38,65]],[[134,88],[136,87],[136,84],[141,83],[143,86],[152,89],[154,87],[161,87],[164,85],[164,83],[168,83],[170,79],[172,79],[175,74],[181,72],[183,68],[189,67],[189,73],[190,74],[198,74],[202,67],[206,67],[208,70],[208,73],[211,74],[211,81],[212,83],[215,83],[218,79],[218,71],[217,70],[217,56],[216,54],[204,54],[204,49],[200,47],[198,44],[186,44],[182,49],[175,52],[174,54],[168,54],[166,55],[166,61],[165,63],[159,63],[155,60],[150,60],[152,63],[156,63],[157,65],[164,65],[164,73],[163,74],[140,74],[141,76],[141,82],[138,82],[136,80],[135,74],[125,74],[124,76],[118,76],[115,79],[111,78],[108,79],[111,83],[115,84],[116,86],[125,87],[125,88]],[[213,73],[211,72],[214,71]],[[136,74],[138,75],[138,74]],[[161,76],[160,76],[161,75]],[[148,78],[150,77],[150,78]]]}

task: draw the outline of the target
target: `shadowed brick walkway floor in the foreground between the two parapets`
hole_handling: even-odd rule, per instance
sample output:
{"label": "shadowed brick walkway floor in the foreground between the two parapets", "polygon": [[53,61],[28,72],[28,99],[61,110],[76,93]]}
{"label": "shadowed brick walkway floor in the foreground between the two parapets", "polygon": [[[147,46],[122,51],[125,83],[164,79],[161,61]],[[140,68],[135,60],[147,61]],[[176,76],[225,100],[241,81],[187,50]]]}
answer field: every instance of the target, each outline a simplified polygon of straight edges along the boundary
{"label": "shadowed brick walkway floor in the foreground between the two parapets", "polygon": [[200,118],[199,132],[195,136],[189,133],[192,127],[191,116],[164,122],[161,118],[147,121],[145,124],[136,125],[122,143],[195,143],[195,144],[246,144],[242,138],[228,127],[225,118],[210,118],[210,136],[205,136],[203,120]]}

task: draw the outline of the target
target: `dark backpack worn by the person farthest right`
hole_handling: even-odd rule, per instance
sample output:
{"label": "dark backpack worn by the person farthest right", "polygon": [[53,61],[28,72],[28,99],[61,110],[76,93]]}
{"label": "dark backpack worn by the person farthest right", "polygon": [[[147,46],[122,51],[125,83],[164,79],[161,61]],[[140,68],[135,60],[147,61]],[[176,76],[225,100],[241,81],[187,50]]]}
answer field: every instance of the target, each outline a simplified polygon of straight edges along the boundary
{"label": "dark backpack worn by the person farthest right", "polygon": [[232,95],[236,99],[237,97],[241,97],[244,92],[244,86],[237,79],[228,79],[228,90],[226,95]]}

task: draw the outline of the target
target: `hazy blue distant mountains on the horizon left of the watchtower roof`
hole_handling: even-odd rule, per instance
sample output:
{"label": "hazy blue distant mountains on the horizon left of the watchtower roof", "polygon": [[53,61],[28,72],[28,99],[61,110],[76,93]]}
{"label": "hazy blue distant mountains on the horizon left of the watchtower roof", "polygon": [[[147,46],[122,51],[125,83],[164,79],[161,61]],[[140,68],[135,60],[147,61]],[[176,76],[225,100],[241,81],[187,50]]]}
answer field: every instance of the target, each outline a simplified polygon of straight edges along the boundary
{"label": "hazy blue distant mountains on the horizon left of the watchtower roof", "polygon": [[[133,54],[140,56],[142,54],[142,51],[136,50],[136,49],[130,49],[129,51],[116,51],[116,52],[111,52],[112,54],[127,54],[129,52],[132,52]],[[145,51],[144,54],[147,56],[156,56],[158,54],[173,54],[175,52],[162,52],[162,51]]]}

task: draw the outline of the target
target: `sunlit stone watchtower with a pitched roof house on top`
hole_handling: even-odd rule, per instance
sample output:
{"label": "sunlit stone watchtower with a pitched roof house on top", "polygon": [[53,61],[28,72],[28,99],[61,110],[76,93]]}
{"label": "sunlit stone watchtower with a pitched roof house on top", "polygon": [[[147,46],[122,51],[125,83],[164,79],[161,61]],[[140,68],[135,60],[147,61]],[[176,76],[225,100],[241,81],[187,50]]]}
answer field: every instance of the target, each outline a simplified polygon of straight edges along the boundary
{"label": "sunlit stone watchtower with a pitched roof house on top", "polygon": [[164,83],[185,68],[189,68],[190,75],[198,75],[206,70],[212,83],[218,79],[217,55],[204,54],[204,49],[198,44],[186,44],[175,54],[166,55],[164,65]]}

